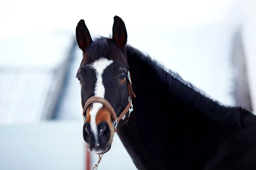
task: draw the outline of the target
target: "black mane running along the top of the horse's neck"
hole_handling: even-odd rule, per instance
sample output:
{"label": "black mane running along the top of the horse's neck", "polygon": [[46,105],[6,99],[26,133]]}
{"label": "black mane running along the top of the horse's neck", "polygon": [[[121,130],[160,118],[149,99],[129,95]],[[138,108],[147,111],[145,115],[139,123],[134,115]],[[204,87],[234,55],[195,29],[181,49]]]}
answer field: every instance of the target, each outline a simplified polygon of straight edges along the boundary
{"label": "black mane running along the top of the horse's neck", "polygon": [[241,107],[225,106],[211,99],[204,91],[182,79],[179,74],[165,68],[149,55],[143,54],[131,45],[126,46],[126,51],[128,56],[133,56],[147,63],[158,74],[160,81],[169,85],[169,92],[171,94],[193,105],[196,109],[204,112],[210,119],[222,126],[242,127],[241,118],[247,116],[249,111]]}

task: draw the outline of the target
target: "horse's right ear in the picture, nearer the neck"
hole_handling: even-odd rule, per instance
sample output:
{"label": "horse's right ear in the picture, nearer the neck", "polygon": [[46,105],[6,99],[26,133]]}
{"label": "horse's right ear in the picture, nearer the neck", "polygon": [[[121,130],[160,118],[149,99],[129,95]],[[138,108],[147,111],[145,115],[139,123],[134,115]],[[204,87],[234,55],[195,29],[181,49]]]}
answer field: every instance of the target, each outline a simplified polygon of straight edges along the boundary
{"label": "horse's right ear in the picture, nearer the neck", "polygon": [[127,43],[127,32],[125,28],[125,23],[118,16],[114,17],[112,31],[113,31],[112,39],[114,40],[116,45],[123,48]]}

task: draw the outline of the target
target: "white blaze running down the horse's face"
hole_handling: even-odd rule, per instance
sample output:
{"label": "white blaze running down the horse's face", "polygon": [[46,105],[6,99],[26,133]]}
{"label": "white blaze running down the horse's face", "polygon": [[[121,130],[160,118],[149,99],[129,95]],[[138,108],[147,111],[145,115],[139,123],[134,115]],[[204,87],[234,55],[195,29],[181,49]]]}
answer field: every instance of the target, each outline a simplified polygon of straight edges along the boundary
{"label": "white blaze running down the horse's face", "polygon": [[[101,58],[92,63],[91,67],[94,69],[94,71],[96,73],[96,85],[95,85],[95,89],[94,89],[95,96],[104,98],[105,88],[104,88],[104,85],[102,82],[102,74],[103,74],[104,70],[109,65],[111,65],[112,62],[113,62],[112,60]],[[90,126],[91,126],[92,132],[95,136],[96,144],[98,144],[98,130],[97,130],[97,125],[96,125],[96,114],[98,113],[99,109],[102,108],[102,106],[103,105],[101,103],[93,103],[93,107],[90,110],[90,116],[91,116]]]}

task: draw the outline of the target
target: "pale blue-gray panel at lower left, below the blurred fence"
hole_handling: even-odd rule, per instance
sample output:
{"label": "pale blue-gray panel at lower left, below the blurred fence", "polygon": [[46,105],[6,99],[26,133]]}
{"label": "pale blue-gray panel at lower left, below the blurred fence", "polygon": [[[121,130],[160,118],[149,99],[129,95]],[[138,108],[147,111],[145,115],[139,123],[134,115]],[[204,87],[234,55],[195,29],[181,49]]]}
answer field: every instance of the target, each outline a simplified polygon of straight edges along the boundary
{"label": "pale blue-gray panel at lower left, below the blurred fence", "polygon": [[0,170],[83,170],[81,129],[77,122],[0,125]]}

